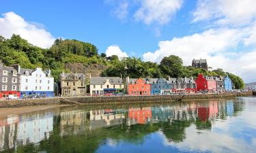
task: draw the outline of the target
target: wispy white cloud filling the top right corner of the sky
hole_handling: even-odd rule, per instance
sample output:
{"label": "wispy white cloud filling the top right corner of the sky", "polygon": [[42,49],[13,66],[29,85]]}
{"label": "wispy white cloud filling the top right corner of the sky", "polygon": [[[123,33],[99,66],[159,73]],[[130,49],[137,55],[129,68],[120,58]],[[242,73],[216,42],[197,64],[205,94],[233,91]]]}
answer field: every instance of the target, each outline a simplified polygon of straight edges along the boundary
{"label": "wispy white cloud filling the top right corner of the sky", "polygon": [[250,24],[256,18],[255,0],[199,0],[193,22],[216,20],[217,24]]}

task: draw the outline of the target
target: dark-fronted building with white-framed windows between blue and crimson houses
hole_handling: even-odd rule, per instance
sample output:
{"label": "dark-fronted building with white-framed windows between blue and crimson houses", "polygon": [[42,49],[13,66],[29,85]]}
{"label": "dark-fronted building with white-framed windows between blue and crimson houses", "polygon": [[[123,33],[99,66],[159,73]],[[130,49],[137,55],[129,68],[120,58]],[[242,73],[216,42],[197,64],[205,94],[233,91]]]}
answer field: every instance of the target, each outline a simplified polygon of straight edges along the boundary
{"label": "dark-fronted building with white-framed windows between blue and crimson houses", "polygon": [[197,85],[193,78],[169,78],[173,84],[173,93],[195,93]]}

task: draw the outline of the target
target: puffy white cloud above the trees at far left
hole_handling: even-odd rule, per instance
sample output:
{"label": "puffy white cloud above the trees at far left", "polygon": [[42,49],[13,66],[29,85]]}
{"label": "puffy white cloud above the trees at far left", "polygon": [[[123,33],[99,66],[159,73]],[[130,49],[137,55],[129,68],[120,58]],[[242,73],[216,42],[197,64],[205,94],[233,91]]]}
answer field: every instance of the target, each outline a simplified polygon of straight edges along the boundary
{"label": "puffy white cloud above the trees at far left", "polygon": [[18,34],[29,43],[42,48],[49,48],[55,41],[51,33],[39,27],[38,25],[27,22],[21,16],[14,12],[2,14],[0,18],[0,35],[10,38],[12,34]]}

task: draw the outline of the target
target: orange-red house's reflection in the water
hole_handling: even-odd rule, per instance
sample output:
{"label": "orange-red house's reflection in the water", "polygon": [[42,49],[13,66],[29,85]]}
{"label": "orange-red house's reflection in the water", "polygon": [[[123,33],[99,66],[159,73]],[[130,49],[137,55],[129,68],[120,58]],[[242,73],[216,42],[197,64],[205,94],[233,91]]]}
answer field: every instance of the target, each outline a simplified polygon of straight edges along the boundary
{"label": "orange-red house's reflection in the water", "polygon": [[137,120],[138,124],[145,124],[152,118],[151,107],[129,108],[128,116],[132,120]]}

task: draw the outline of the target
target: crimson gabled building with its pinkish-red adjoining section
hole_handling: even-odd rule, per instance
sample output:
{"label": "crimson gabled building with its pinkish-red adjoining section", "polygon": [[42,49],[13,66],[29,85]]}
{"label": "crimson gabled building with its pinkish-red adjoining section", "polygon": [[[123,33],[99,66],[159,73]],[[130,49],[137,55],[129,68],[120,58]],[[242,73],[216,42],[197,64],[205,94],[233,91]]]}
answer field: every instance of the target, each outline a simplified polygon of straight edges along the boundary
{"label": "crimson gabled building with its pinkish-red adjoining section", "polygon": [[216,91],[216,81],[212,76],[203,76],[203,74],[199,74],[197,80],[197,91],[207,90],[208,92]]}

